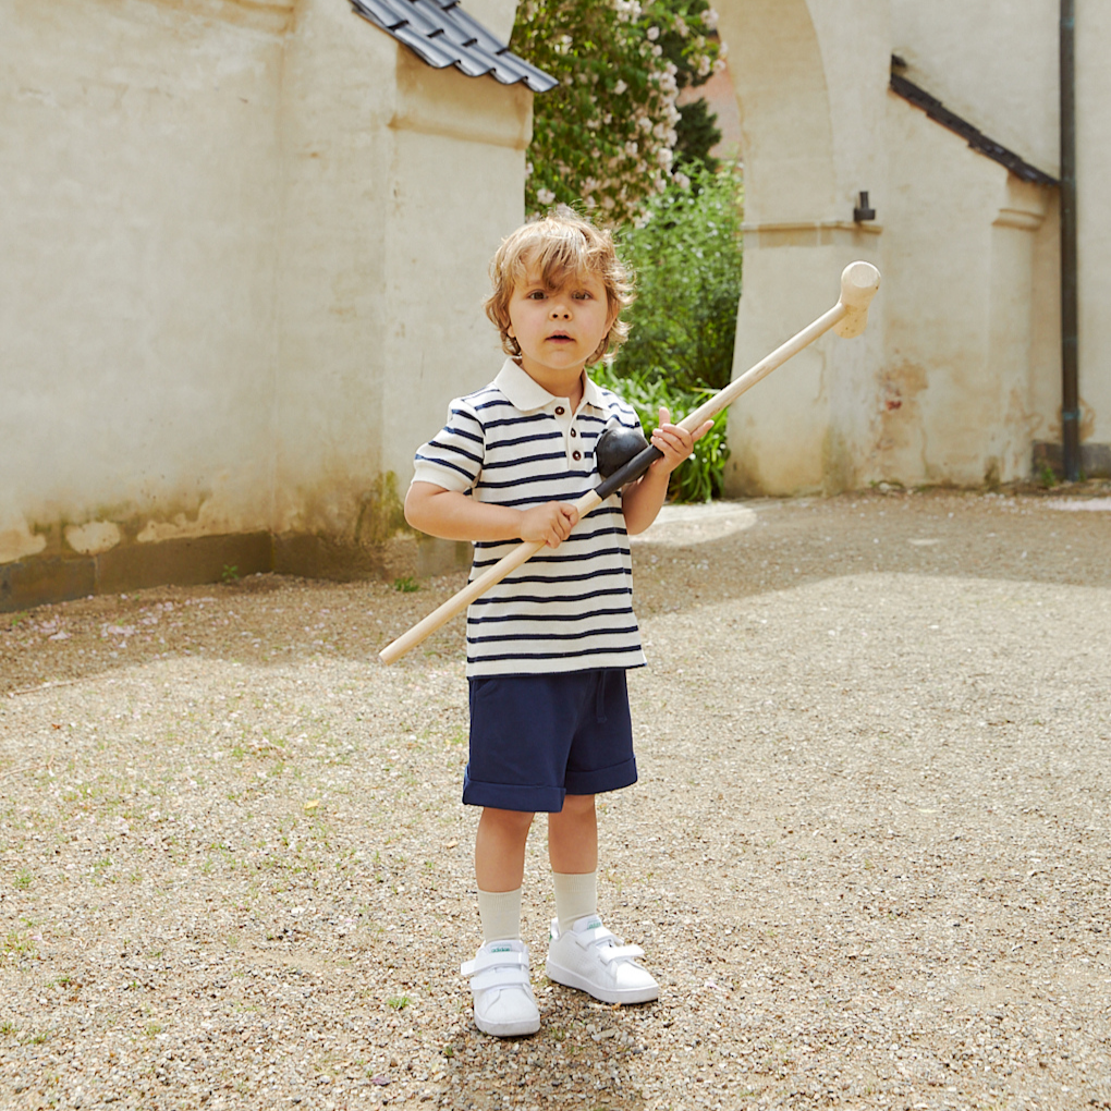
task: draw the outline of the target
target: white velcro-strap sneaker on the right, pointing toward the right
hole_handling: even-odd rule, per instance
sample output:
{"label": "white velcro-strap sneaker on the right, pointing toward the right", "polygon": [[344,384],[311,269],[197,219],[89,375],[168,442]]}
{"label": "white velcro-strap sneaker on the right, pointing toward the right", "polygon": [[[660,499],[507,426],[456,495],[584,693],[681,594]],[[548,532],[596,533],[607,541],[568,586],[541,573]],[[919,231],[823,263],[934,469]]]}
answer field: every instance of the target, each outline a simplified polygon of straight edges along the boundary
{"label": "white velcro-strap sneaker on the right, pointing toward the right", "polygon": [[597,914],[580,918],[565,933],[560,933],[554,921],[550,938],[549,980],[578,988],[603,1003],[647,1003],[659,998],[660,985],[635,960],[644,950],[622,944]]}

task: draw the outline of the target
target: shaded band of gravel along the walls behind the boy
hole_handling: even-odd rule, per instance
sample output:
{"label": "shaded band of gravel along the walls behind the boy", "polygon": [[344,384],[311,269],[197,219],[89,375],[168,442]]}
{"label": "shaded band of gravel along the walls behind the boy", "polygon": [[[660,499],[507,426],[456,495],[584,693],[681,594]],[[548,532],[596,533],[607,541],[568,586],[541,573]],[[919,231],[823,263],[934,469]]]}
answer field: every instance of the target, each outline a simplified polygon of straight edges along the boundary
{"label": "shaded band of gravel along the walls behind the boy", "polygon": [[[683,544],[681,523],[661,532],[664,542],[645,533],[634,544],[634,604],[647,618],[873,571],[1111,584],[1111,513],[1054,511],[1052,501],[944,491],[749,501],[754,523],[724,537]],[[698,509],[680,516],[694,521],[693,537],[713,536],[699,529]],[[166,658],[281,667],[323,657],[378,667],[386,644],[464,583],[462,572],[418,590],[253,575],[0,614],[0,692]],[[461,662],[463,624],[453,619],[394,667]]]}

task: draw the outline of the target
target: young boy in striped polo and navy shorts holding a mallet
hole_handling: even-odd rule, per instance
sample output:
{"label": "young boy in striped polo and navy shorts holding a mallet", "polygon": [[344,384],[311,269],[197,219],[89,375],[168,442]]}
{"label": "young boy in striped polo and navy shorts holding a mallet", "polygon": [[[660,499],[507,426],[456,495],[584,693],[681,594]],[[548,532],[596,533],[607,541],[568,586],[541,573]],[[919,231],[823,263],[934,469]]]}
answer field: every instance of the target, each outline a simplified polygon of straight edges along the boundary
{"label": "young boy in striped polo and navy shorts holding a mallet", "polygon": [[647,529],[694,440],[660,411],[650,470],[581,521],[572,501],[599,477],[594,444],[634,410],[585,374],[627,336],[632,301],[610,236],[560,209],[526,224],[491,264],[487,314],[509,354],[498,377],[451,403],[417,452],[406,518],[474,542],[472,575],[519,541],[547,548],[491,588],[467,619],[470,760],[463,802],[482,807],[474,845],[483,944],[463,965],[474,1021],[513,1037],[540,1029],[521,942],[524,845],[548,812],[556,888],[547,973],[609,1003],[659,985],[598,917],[594,795],[637,780],[624,671],[644,657],[631,607],[627,533]]}

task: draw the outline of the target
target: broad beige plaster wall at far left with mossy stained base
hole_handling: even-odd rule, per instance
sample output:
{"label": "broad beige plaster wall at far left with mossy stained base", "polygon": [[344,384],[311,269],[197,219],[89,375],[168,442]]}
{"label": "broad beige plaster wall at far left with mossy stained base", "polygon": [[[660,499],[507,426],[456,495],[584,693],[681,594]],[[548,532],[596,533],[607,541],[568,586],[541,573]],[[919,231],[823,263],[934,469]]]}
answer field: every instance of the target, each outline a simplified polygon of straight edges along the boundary
{"label": "broad beige plaster wall at far left with mossy stained base", "polygon": [[0,561],[264,526],[288,13],[3,7]]}

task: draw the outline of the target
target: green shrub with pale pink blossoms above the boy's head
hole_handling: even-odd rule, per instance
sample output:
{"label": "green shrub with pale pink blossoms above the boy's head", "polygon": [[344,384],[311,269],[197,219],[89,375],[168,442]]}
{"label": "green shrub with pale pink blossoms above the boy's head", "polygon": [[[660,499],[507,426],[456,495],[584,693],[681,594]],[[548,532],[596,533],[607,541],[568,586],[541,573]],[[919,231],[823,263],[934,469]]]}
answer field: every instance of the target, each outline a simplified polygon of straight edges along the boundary
{"label": "green shrub with pale pink blossoms above the boy's head", "polygon": [[584,206],[604,223],[641,217],[675,171],[675,98],[720,61],[708,0],[523,0],[512,47],[559,79],[533,101],[530,212]]}

